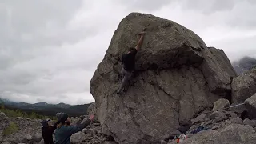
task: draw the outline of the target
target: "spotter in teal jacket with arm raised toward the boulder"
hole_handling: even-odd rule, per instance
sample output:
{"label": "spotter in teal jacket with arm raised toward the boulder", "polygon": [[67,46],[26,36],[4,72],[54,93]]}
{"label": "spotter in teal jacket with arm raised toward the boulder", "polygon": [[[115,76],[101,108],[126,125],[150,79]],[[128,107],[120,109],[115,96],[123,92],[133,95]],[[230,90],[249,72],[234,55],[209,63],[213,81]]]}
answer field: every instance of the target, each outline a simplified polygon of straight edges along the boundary
{"label": "spotter in teal jacket with arm raised toward the boulder", "polygon": [[57,113],[56,116],[60,123],[55,130],[55,144],[70,144],[71,135],[86,128],[94,120],[94,115],[92,114],[90,118],[85,118],[79,125],[69,126],[70,118],[68,114]]}

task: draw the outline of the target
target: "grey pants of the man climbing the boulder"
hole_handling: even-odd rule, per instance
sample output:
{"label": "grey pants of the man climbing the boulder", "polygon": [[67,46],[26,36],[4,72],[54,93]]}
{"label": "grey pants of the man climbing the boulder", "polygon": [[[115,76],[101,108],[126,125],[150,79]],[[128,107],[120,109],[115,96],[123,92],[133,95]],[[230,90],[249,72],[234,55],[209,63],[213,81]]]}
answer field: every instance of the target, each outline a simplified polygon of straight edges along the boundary
{"label": "grey pants of the man climbing the boulder", "polygon": [[121,92],[122,89],[127,90],[129,81],[133,77],[134,72],[133,71],[130,72],[122,68],[121,74],[122,74],[122,83],[118,89],[118,92]]}

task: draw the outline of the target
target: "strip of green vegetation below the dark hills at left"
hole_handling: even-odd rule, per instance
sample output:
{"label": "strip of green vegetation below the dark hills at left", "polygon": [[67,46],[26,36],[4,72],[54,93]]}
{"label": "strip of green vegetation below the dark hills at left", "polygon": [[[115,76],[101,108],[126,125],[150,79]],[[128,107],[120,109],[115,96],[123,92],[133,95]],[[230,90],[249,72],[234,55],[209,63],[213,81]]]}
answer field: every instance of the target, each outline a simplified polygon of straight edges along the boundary
{"label": "strip of green vegetation below the dark hills at left", "polygon": [[31,118],[31,119],[46,119],[46,118],[50,118],[50,119],[56,119],[56,117],[54,116],[45,116],[45,115],[41,115],[41,114],[37,114],[34,112],[24,112],[23,110],[18,110],[18,109],[10,109],[6,106],[4,106],[4,104],[2,103],[0,106],[0,112],[3,112],[6,114],[6,116],[8,117],[22,117],[22,118]]}

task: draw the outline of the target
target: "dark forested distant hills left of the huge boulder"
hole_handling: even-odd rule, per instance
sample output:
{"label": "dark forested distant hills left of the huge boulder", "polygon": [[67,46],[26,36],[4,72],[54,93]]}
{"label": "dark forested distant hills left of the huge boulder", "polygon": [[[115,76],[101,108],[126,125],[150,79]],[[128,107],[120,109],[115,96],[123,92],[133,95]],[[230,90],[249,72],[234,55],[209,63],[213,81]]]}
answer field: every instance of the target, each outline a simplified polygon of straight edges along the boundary
{"label": "dark forested distant hills left of the huge boulder", "polygon": [[58,112],[64,112],[69,114],[71,117],[77,117],[80,115],[85,115],[87,113],[87,108],[90,106],[89,104],[84,105],[68,105],[65,103],[58,104],[48,104],[46,102],[39,103],[26,103],[26,102],[10,102],[6,99],[0,99],[0,103],[4,103],[5,106],[11,109],[19,109],[26,112],[36,112],[42,115],[54,116]]}

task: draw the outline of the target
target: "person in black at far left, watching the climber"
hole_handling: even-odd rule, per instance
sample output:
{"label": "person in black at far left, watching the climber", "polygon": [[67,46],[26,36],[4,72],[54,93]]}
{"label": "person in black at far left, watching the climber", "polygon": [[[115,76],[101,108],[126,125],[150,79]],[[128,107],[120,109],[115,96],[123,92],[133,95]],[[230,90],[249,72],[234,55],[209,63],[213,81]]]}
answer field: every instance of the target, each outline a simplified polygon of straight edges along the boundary
{"label": "person in black at far left, watching the climber", "polygon": [[42,124],[42,138],[45,144],[54,144],[53,133],[57,128],[59,122],[54,123],[54,126],[51,126],[50,119],[43,120]]}

